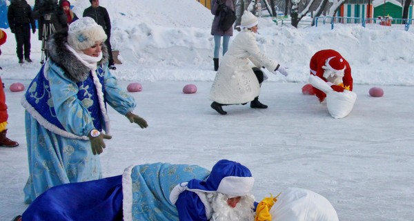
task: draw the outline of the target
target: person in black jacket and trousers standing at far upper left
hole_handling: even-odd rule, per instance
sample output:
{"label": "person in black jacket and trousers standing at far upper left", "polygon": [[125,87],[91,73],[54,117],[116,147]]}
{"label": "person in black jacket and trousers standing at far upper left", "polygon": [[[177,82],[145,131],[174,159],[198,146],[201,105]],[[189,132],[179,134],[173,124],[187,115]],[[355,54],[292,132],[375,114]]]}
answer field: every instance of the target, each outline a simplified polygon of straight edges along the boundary
{"label": "person in black jacket and trousers standing at far upper left", "polygon": [[7,18],[10,30],[16,37],[16,53],[19,63],[24,63],[23,48],[24,59],[32,62],[32,59],[30,59],[30,28],[32,28],[33,33],[36,32],[36,26],[32,18],[32,8],[26,0],[12,0],[8,8]]}

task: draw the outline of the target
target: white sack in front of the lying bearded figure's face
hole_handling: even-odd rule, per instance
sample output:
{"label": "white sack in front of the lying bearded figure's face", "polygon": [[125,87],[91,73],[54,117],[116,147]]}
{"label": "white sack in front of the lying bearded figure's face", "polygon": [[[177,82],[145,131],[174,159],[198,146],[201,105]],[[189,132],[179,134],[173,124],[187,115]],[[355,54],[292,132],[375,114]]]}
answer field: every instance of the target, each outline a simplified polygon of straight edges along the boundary
{"label": "white sack in front of the lying bearded figure's face", "polygon": [[299,188],[288,188],[270,209],[277,221],[339,221],[331,202],[322,195]]}

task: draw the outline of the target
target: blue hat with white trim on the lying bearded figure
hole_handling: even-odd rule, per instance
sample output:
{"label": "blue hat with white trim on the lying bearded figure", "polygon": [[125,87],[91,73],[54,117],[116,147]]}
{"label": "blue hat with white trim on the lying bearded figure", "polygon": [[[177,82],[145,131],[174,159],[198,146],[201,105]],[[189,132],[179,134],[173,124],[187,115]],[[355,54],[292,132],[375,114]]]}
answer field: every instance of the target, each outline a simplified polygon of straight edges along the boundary
{"label": "blue hat with white trim on the lying bearded figure", "polygon": [[219,160],[211,170],[206,181],[190,180],[187,188],[203,192],[219,192],[230,197],[248,195],[255,178],[250,170],[230,160]]}

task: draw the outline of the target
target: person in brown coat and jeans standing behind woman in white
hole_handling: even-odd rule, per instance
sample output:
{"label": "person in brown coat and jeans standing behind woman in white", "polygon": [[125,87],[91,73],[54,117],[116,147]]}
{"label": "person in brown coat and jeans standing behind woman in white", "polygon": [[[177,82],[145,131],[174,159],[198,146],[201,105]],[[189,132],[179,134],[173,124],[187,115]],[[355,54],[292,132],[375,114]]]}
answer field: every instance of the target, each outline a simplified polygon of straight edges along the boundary
{"label": "person in brown coat and jeans standing behind woman in white", "polygon": [[220,53],[220,44],[221,37],[223,37],[223,55],[226,54],[228,50],[228,42],[230,37],[233,36],[233,27],[230,26],[227,30],[221,30],[219,28],[220,22],[220,10],[223,10],[224,7],[228,7],[230,10],[235,10],[235,6],[232,0],[213,0],[211,1],[211,14],[214,15],[213,24],[211,25],[211,35],[214,36],[214,70],[219,69],[219,53]]}

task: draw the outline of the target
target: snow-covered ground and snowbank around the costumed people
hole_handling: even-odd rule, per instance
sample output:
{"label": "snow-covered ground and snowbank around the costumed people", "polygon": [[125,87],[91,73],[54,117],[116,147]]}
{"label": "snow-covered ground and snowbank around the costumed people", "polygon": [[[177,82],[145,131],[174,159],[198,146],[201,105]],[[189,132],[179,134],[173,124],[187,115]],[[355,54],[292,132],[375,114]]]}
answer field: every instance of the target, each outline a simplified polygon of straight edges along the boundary
{"label": "snow-covered ground and snowbank around the costumed people", "polygon": [[[71,3],[79,16],[90,6],[88,0]],[[289,76],[268,73],[260,96],[268,109],[225,106],[228,115],[223,116],[207,99],[215,72],[213,16],[206,8],[194,0],[100,3],[111,15],[112,45],[124,63],[113,73],[124,88],[131,81],[142,84],[143,90],[132,95],[135,112],[149,124],[142,130],[109,109],[113,138],[101,154],[104,176],[119,175],[130,164],[211,168],[228,158],[251,169],[257,200],[297,186],[324,195],[340,220],[413,220],[413,28],[295,29],[259,19],[259,46],[288,68]],[[8,88],[14,82],[27,87],[41,59],[36,33],[34,62],[17,64],[14,35],[6,32],[0,75],[9,107],[8,137],[20,146],[0,148],[0,220],[26,209],[22,189],[28,177],[23,92]],[[326,105],[301,93],[309,59],[325,48],[341,52],[353,69],[358,98],[344,119],[333,119]],[[197,85],[197,93],[182,93],[186,84]],[[373,86],[383,88],[384,97],[370,97]]]}

